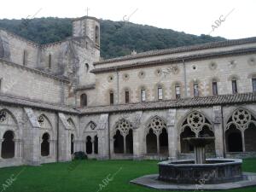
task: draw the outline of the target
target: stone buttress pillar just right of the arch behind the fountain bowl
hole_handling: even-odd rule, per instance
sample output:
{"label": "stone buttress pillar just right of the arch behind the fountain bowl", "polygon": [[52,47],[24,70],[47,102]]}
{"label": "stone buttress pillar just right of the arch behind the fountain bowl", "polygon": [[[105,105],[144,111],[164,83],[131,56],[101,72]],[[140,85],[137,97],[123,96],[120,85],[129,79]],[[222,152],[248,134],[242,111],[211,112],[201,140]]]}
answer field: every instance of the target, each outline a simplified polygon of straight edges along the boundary
{"label": "stone buttress pillar just right of the arch behind the fountain bowl", "polygon": [[217,158],[224,158],[224,135],[223,135],[223,119],[222,107],[213,106],[213,132],[215,137],[215,153]]}

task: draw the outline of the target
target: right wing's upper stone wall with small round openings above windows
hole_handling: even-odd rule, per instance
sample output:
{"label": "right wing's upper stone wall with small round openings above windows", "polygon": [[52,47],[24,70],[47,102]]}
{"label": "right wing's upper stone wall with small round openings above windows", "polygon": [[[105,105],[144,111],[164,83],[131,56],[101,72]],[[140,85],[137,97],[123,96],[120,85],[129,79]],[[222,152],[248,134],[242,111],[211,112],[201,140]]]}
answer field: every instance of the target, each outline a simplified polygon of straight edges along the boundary
{"label": "right wing's upper stone wall with small round openings above windows", "polygon": [[[114,103],[125,103],[125,90],[130,91],[130,102],[141,101],[141,89],[146,90],[146,101],[158,101],[157,88],[163,89],[163,99],[176,99],[175,85],[181,88],[181,97],[193,97],[193,84],[199,85],[199,96],[212,96],[212,81],[217,81],[218,95],[232,94],[231,80],[236,79],[238,93],[252,92],[256,55],[229,56],[203,61],[133,67],[118,72],[96,73],[96,105],[109,104],[109,91]],[[186,86],[185,86],[186,81]],[[187,93],[185,92],[187,90]]]}

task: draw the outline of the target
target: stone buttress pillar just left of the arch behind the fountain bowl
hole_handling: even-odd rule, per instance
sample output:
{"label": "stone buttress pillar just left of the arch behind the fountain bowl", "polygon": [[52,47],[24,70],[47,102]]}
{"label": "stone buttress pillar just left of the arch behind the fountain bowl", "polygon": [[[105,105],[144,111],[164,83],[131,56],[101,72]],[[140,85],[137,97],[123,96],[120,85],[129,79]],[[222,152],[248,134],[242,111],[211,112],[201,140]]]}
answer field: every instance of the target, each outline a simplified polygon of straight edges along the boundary
{"label": "stone buttress pillar just left of the arch behind the fountain bowl", "polygon": [[167,133],[169,159],[177,159],[177,127],[176,127],[176,109],[169,109],[167,115]]}

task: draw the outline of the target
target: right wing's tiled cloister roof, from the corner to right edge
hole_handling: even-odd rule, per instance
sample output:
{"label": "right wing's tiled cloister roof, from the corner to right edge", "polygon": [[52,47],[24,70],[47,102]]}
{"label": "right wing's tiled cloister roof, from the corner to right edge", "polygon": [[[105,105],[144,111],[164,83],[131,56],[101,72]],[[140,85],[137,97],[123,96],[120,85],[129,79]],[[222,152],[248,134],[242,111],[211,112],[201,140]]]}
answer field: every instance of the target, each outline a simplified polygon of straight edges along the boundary
{"label": "right wing's tiled cloister roof, from the corner to right edge", "polygon": [[241,93],[236,95],[202,96],[182,98],[161,102],[138,102],[131,104],[119,104],[112,106],[79,108],[81,113],[115,113],[137,110],[157,110],[165,108],[196,108],[214,105],[233,105],[256,103],[256,93]]}

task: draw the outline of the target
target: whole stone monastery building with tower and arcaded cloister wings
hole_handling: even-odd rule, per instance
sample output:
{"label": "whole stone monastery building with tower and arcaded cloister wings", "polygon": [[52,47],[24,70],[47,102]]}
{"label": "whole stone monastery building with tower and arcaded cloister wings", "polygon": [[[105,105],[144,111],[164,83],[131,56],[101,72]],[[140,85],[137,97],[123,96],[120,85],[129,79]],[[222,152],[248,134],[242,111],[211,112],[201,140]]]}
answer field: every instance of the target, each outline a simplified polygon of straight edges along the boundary
{"label": "whole stone monastery building with tower and arcaded cloister wings", "polygon": [[100,23],[53,44],[0,30],[0,167],[89,158],[256,155],[256,38],[100,60]]}

